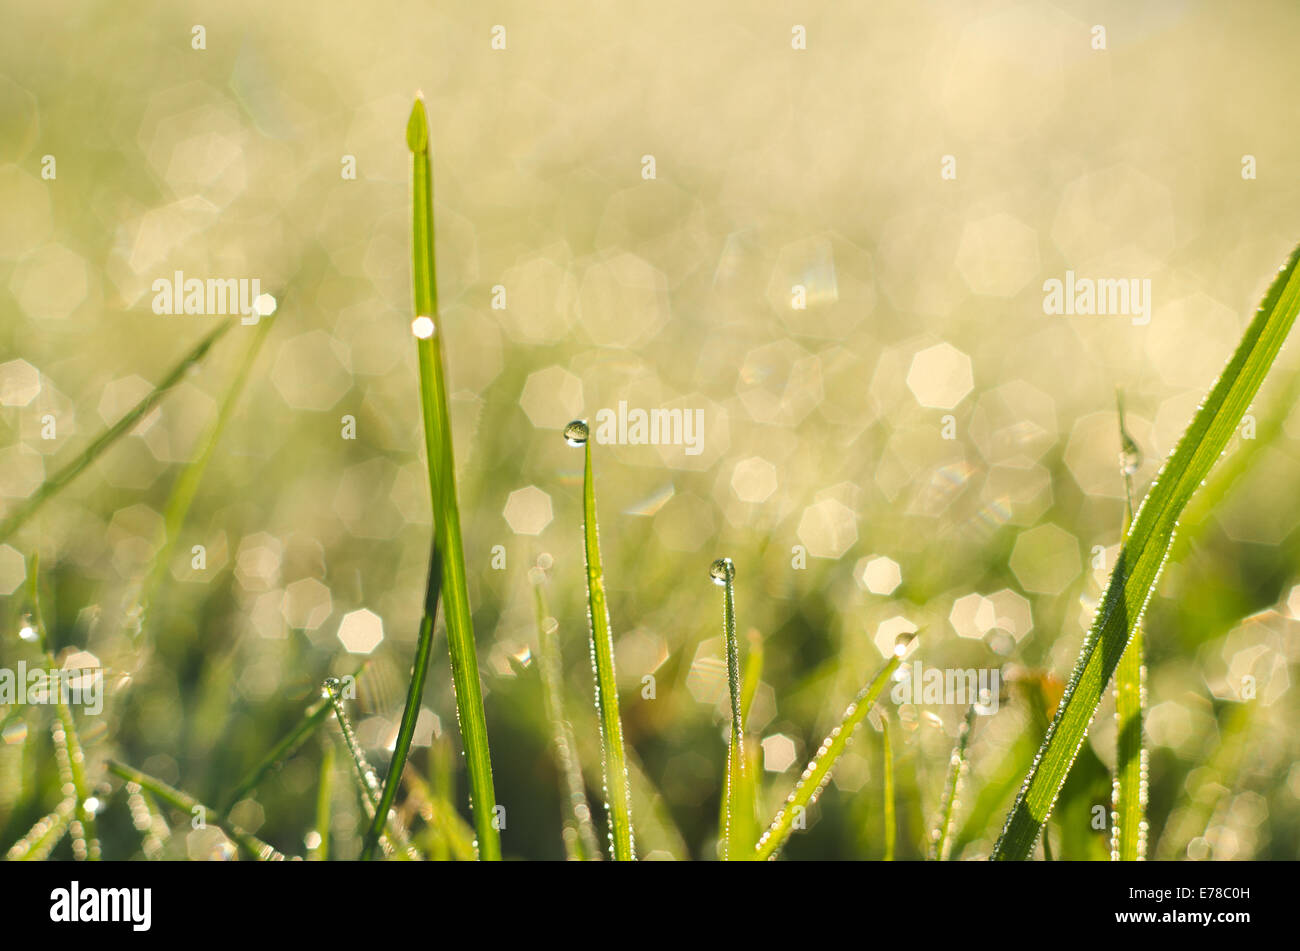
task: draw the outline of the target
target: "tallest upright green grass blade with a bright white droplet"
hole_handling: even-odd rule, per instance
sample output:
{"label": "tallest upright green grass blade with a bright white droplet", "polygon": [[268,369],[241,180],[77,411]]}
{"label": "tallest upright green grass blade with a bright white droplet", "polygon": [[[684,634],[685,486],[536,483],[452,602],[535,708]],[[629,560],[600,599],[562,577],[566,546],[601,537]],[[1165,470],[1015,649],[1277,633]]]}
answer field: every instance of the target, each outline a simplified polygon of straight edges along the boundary
{"label": "tallest upright green grass blade with a bright white droplet", "polygon": [[[451,452],[451,414],[438,333],[438,292],[433,248],[433,166],[424,100],[417,99],[407,123],[411,174],[411,275],[416,321],[412,329],[420,353],[420,408],[433,496],[434,531],[442,557],[442,615],[447,626],[451,679],[456,691],[456,721],[465,747],[471,808],[478,835],[478,857],[500,859],[500,833],[493,824],[497,792],[493,789],[488,717],[484,713],[478,656],[469,617],[465,553],[456,507],[456,464]],[[425,661],[428,663],[428,661]],[[419,674],[417,676],[422,676]]]}

